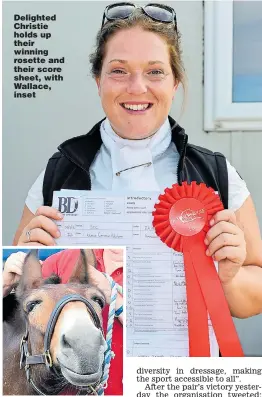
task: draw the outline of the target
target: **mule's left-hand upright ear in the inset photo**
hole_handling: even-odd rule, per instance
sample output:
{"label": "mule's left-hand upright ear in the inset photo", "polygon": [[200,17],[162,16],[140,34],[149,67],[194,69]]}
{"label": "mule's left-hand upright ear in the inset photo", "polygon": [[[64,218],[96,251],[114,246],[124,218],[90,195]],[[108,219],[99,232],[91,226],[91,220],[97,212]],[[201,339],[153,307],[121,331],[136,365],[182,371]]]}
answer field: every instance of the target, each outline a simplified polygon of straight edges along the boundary
{"label": "mule's left-hand upright ear in the inset photo", "polygon": [[38,250],[31,250],[25,257],[23,274],[17,287],[17,296],[24,292],[38,288],[43,282],[42,266],[38,260]]}

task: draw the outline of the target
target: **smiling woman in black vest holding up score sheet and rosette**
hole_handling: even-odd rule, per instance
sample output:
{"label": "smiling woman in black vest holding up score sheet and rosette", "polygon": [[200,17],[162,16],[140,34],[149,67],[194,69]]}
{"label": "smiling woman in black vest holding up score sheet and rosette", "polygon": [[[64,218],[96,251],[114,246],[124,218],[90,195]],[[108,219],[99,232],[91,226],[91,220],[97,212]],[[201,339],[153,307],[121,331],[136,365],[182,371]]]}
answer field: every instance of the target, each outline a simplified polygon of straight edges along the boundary
{"label": "smiling woman in black vest holding up score sheet and rosette", "polygon": [[205,183],[225,210],[211,220],[206,255],[232,315],[262,312],[262,250],[255,209],[245,182],[226,158],[188,143],[169,116],[184,85],[180,33],[173,8],[160,4],[108,6],[90,56],[106,118],[84,136],[59,146],[32,186],[15,243],[54,245],[55,190],[163,191],[182,182]]}

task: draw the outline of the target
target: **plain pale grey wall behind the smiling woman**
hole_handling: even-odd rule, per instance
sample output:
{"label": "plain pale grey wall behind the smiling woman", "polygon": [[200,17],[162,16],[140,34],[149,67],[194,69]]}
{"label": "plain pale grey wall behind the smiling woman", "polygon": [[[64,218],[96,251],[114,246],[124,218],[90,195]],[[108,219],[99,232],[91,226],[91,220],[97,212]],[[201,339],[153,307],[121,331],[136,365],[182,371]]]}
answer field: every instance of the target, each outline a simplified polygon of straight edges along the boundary
{"label": "plain pale grey wall behind the smiling woman", "polygon": [[[141,2],[140,2],[141,3]],[[224,153],[246,180],[262,224],[262,133],[209,133],[203,131],[203,4],[167,2],[178,16],[188,76],[186,108],[181,115],[178,95],[171,115],[186,129],[192,143]],[[4,2],[3,3],[3,244],[9,245],[18,226],[27,191],[47,159],[64,140],[81,135],[104,115],[88,55],[95,42],[102,14],[109,2]],[[49,22],[49,55],[65,57],[63,82],[36,99],[13,98],[13,14],[56,13]],[[40,46],[38,46],[40,48]],[[237,321],[247,355],[262,356],[262,316]]]}

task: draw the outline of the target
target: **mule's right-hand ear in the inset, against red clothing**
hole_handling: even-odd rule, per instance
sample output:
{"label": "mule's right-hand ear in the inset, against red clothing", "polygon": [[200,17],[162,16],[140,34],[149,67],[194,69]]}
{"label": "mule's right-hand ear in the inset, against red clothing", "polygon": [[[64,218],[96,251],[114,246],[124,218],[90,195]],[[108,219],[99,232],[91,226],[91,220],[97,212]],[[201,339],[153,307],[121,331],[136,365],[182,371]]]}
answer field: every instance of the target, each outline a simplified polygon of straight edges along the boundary
{"label": "mule's right-hand ear in the inset, against red clothing", "polygon": [[88,275],[88,267],[96,267],[96,257],[91,249],[80,250],[80,256],[75,264],[75,267],[70,276],[70,283],[83,283],[88,284],[90,282]]}

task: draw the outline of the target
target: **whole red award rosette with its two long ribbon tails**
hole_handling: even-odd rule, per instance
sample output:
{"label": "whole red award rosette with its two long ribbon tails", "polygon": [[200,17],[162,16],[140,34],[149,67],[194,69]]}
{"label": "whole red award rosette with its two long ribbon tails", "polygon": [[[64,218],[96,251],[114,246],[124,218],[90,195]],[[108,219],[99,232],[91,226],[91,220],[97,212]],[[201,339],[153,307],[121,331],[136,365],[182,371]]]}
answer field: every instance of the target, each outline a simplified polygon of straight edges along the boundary
{"label": "whole red award rosette with its two long ribbon tails", "polygon": [[190,357],[209,357],[208,313],[221,355],[243,357],[220,279],[204,239],[210,219],[223,210],[204,183],[175,184],[159,196],[153,226],[161,241],[184,255]]}

